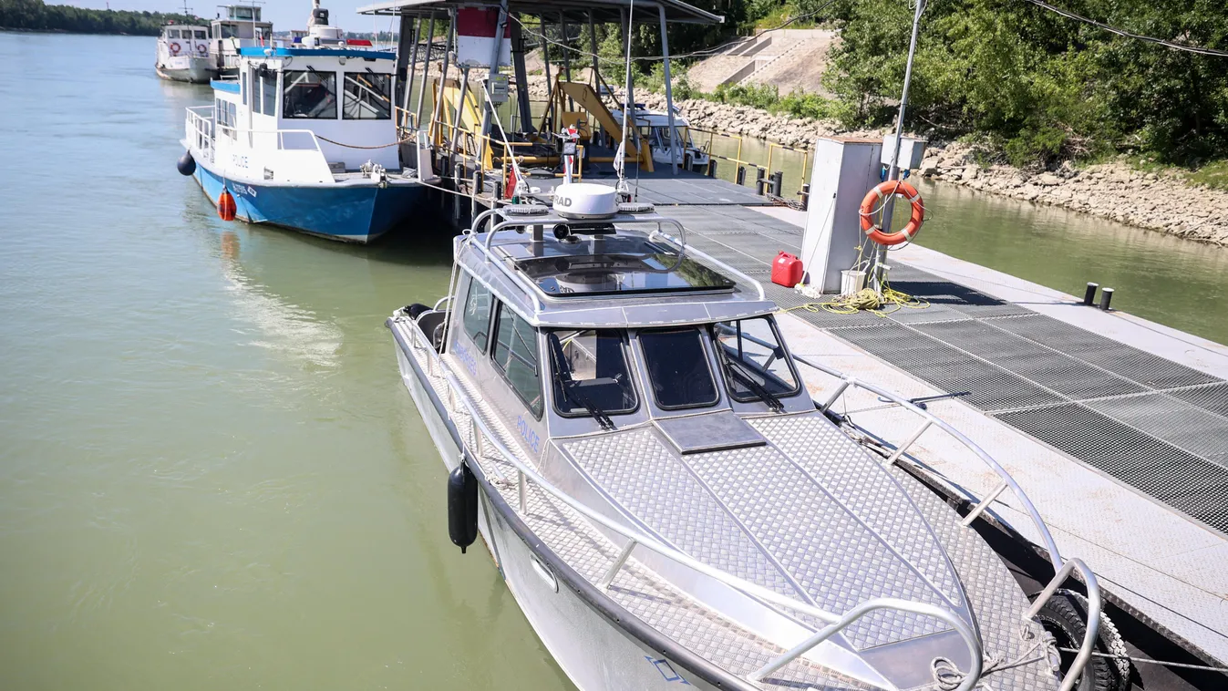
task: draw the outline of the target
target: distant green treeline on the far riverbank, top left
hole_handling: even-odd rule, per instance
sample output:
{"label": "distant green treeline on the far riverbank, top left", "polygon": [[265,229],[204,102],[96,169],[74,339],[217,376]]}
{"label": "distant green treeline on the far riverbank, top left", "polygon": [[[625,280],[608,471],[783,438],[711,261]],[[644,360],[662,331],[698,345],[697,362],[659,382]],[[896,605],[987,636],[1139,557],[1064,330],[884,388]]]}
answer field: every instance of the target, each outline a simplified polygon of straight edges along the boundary
{"label": "distant green treeline on the far riverbank, top left", "polygon": [[0,0],[2,28],[157,36],[162,25],[172,20],[177,23],[203,22],[173,14],[86,10],[71,5],[44,5],[43,0]]}

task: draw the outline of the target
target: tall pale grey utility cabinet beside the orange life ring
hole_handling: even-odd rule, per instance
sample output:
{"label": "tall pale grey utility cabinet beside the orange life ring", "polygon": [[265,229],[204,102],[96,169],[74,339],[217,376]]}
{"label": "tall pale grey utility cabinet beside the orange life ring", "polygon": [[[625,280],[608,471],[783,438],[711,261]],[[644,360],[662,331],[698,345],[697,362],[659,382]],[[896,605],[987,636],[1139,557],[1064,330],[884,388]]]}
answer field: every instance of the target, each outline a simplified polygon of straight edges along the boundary
{"label": "tall pale grey utility cabinet beside the orange life ring", "polygon": [[862,198],[880,182],[883,151],[878,139],[836,136],[814,144],[802,266],[806,282],[825,293],[840,292],[840,271],[852,268],[858,252],[863,259],[874,258],[878,245],[861,230],[860,210]]}

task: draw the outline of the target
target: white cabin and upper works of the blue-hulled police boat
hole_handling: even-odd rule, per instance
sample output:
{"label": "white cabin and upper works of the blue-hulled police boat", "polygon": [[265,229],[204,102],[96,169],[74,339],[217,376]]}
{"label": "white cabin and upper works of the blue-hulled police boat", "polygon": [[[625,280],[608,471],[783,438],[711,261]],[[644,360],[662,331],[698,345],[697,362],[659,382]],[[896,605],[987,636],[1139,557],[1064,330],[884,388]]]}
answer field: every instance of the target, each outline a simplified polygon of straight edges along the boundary
{"label": "white cabin and upper works of the blue-hulled police boat", "polygon": [[212,118],[189,110],[188,141],[239,179],[332,183],[398,171],[394,68],[395,55],[379,50],[241,48],[238,75],[211,82]]}

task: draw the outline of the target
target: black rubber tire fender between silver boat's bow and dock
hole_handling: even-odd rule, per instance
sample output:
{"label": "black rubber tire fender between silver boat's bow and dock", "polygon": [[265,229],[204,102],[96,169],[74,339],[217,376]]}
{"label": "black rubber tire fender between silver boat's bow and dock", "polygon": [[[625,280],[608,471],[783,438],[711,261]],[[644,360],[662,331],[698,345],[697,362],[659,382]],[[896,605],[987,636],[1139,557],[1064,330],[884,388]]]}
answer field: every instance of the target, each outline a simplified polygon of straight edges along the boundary
{"label": "black rubber tire fender between silver boat's bow and dock", "polygon": [[[1036,612],[1036,621],[1045,631],[1054,635],[1059,647],[1078,648],[1087,633],[1087,598],[1074,590],[1062,588],[1040,608],[1040,611]],[[1100,632],[1097,636],[1094,652],[1108,655],[1126,654],[1126,643],[1121,639],[1121,633],[1103,612],[1100,614]],[[1063,664],[1068,664],[1067,660],[1072,660],[1074,654],[1062,653]],[[1127,691],[1130,689],[1130,660],[1093,655],[1087,663],[1083,677],[1079,679],[1074,689],[1077,691]]]}

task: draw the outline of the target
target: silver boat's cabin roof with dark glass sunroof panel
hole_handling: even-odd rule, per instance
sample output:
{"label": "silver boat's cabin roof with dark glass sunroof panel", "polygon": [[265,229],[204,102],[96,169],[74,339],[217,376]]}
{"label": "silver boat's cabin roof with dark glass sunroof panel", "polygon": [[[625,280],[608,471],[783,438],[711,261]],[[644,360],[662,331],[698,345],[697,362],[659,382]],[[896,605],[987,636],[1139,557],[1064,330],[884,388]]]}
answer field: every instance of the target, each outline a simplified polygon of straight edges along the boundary
{"label": "silver boat's cabin roof with dark glass sunroof panel", "polygon": [[[776,309],[754,279],[734,280],[667,236],[663,228],[678,225],[657,214],[577,221],[548,211],[492,220],[494,236],[457,238],[457,260],[534,326],[706,324]],[[556,232],[560,226],[566,231]]]}

